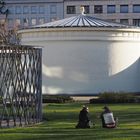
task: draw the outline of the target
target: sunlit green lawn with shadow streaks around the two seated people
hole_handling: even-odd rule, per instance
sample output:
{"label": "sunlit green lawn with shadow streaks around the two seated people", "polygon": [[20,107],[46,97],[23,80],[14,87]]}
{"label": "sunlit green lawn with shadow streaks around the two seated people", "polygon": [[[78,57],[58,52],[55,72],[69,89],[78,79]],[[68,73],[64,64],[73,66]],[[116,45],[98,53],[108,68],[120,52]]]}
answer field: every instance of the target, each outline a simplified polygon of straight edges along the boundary
{"label": "sunlit green lawn with shadow streaks around the two seated people", "polygon": [[115,129],[101,127],[103,105],[89,105],[93,128],[75,129],[82,104],[47,104],[43,107],[46,121],[31,127],[1,129],[0,140],[140,140],[140,104],[109,106],[119,118]]}

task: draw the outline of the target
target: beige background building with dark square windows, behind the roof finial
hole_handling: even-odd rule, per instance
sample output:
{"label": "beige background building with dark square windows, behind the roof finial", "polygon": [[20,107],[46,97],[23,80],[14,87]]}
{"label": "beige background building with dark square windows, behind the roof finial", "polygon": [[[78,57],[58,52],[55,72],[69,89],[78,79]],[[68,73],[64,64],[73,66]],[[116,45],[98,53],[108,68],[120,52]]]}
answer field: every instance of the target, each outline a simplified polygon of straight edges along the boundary
{"label": "beige background building with dark square windows, behind the roof finial", "polygon": [[96,18],[140,26],[140,0],[65,0],[64,17],[78,15],[81,5]]}

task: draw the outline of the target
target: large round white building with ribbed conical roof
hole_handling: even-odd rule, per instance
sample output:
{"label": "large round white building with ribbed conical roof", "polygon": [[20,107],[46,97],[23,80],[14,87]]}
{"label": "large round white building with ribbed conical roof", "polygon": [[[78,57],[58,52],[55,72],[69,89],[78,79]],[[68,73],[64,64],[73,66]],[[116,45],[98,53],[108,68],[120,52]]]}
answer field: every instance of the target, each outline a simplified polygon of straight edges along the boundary
{"label": "large round white building with ribbed conical roof", "polygon": [[140,28],[81,14],[19,34],[22,44],[43,46],[43,93],[140,91]]}

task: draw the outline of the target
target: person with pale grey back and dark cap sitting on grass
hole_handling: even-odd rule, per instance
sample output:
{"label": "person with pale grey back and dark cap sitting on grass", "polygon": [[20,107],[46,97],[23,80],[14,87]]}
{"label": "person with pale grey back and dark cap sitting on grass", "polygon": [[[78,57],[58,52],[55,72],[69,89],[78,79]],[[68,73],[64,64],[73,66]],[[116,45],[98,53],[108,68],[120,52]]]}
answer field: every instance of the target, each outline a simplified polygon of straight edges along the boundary
{"label": "person with pale grey back and dark cap sitting on grass", "polygon": [[113,113],[110,111],[109,107],[105,106],[104,111],[101,113],[102,127],[103,128],[115,128],[116,119],[114,119]]}

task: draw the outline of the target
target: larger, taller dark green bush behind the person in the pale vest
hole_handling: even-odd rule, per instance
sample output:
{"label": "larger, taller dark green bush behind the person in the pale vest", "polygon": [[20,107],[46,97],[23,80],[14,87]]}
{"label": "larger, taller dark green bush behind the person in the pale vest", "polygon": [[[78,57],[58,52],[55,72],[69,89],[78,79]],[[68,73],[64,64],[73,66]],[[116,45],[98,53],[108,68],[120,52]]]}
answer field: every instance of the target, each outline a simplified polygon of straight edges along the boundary
{"label": "larger, taller dark green bush behind the person in the pale vest", "polygon": [[135,103],[140,102],[139,96],[133,93],[105,92],[99,94],[99,98],[90,99],[90,103]]}

